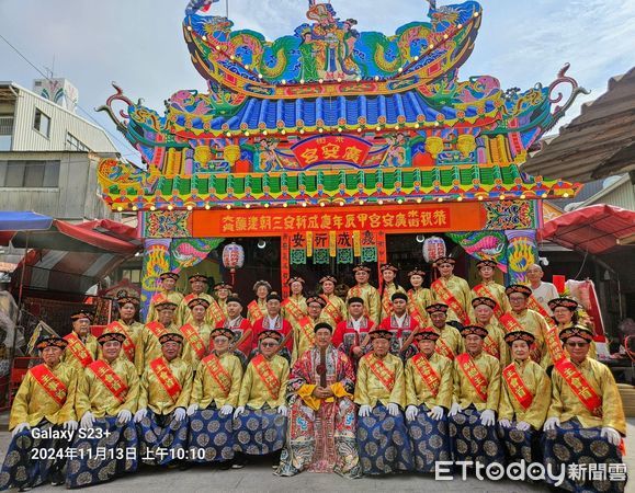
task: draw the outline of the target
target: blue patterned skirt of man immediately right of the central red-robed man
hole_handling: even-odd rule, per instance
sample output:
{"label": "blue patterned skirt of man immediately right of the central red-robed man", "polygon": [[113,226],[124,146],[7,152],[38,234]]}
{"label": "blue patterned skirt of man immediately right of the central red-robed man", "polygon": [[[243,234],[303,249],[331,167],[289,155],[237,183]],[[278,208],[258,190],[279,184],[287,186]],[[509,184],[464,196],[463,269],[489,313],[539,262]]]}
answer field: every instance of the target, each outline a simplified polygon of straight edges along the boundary
{"label": "blue patterned skirt of man immediately right of the central red-robed man", "polygon": [[358,447],[364,474],[389,474],[412,469],[412,454],[404,415],[390,416],[377,404],[358,419]]}

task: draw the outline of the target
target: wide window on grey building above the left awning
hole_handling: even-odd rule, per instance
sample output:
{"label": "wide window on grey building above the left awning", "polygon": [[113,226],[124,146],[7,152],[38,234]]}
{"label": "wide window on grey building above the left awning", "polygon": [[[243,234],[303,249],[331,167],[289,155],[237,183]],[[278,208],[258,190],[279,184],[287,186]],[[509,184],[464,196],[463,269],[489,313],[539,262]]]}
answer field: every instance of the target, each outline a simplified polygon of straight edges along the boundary
{"label": "wide window on grey building above the left awning", "polygon": [[59,186],[59,161],[0,161],[0,186],[55,188]]}

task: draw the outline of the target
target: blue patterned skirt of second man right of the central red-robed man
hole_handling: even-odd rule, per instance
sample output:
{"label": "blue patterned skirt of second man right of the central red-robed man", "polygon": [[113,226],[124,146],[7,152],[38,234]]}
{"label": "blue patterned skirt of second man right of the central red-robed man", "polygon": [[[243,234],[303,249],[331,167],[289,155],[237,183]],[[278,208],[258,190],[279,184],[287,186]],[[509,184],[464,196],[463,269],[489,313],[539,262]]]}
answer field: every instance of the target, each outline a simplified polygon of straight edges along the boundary
{"label": "blue patterned skirt of second man right of the central red-robed man", "polygon": [[421,404],[417,419],[406,422],[412,444],[412,470],[416,472],[434,472],[434,462],[452,458],[447,417],[435,421],[428,415],[429,411],[426,404]]}

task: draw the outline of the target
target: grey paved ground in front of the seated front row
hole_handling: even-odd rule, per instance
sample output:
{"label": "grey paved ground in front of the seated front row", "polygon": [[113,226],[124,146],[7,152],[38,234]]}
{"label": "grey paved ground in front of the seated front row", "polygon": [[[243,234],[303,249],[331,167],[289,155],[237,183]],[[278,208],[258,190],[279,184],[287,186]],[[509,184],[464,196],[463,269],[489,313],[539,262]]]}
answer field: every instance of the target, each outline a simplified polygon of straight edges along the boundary
{"label": "grey paved ground in front of the seated front row", "polygon": [[[0,426],[7,429],[5,422]],[[4,420],[5,421],[5,420]],[[11,434],[0,432],[0,460],[9,445]],[[626,440],[626,465],[628,471],[635,471],[635,419],[628,419],[628,438]],[[479,481],[468,478],[462,481],[434,481],[432,475],[401,474],[387,478],[363,478],[360,480],[344,480],[336,474],[303,473],[295,478],[277,478],[273,475],[271,463],[259,461],[240,470],[222,471],[213,467],[194,467],[186,471],[144,468],[135,474],[121,478],[114,482],[90,488],[90,492],[297,492],[297,491],[329,491],[329,492],[470,492],[470,493],[512,493],[512,492],[544,492],[542,485],[532,485],[514,481]],[[36,492],[61,492],[63,486],[41,486]],[[626,486],[627,492],[635,492],[635,479]]]}

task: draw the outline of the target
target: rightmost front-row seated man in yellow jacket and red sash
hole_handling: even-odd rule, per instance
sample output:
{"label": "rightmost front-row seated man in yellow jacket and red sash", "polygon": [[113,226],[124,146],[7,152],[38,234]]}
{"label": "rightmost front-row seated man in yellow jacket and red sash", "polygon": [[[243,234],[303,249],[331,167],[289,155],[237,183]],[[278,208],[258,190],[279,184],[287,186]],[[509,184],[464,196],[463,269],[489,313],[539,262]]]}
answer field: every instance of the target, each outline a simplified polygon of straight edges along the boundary
{"label": "rightmost front-row seated man in yellow jacket and red sash", "polygon": [[[588,357],[593,334],[575,325],[560,332],[569,358],[560,359],[552,372],[552,403],[542,439],[547,467],[591,462],[622,465],[621,442],[626,434],[622,400],[609,367]],[[624,474],[625,477],[625,474]],[[593,480],[566,478],[566,491],[623,492],[626,479],[610,481],[599,474]],[[549,479],[546,480],[549,482]]]}

